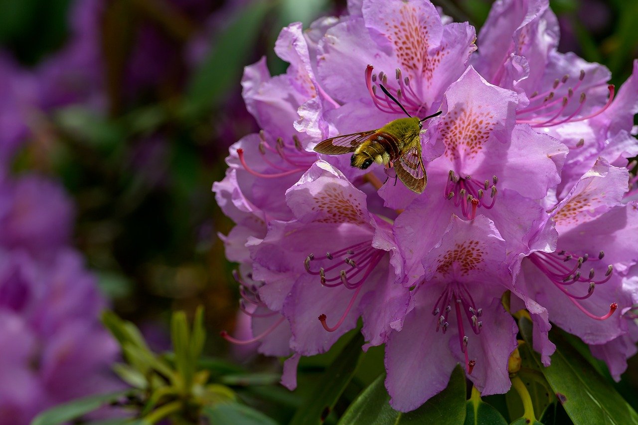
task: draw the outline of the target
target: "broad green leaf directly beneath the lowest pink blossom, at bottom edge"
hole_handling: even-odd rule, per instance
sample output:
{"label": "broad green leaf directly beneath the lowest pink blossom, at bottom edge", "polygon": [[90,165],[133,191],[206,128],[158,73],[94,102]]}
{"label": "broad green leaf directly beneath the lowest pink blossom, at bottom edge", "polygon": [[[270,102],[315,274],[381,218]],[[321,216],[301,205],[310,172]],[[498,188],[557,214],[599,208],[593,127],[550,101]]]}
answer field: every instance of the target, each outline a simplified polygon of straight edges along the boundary
{"label": "broad green leaf directly beneath the lowest pink blossom, at bottom edge", "polygon": [[417,410],[401,413],[390,407],[385,376],[376,378],[348,407],[339,424],[463,424],[466,415],[465,374],[457,366],[447,388]]}

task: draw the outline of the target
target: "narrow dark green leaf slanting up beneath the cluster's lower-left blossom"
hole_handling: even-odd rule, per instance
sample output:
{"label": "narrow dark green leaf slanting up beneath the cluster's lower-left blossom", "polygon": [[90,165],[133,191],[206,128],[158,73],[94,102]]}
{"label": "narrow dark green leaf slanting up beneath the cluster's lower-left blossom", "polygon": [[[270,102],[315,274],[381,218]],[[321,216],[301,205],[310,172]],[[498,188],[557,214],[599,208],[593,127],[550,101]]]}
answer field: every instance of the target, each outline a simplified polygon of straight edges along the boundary
{"label": "narrow dark green leaf slanting up beneath the cluster's lower-left blossom", "polygon": [[323,422],[357,371],[363,343],[362,334],[357,332],[336,360],[325,369],[313,391],[295,412],[291,425]]}

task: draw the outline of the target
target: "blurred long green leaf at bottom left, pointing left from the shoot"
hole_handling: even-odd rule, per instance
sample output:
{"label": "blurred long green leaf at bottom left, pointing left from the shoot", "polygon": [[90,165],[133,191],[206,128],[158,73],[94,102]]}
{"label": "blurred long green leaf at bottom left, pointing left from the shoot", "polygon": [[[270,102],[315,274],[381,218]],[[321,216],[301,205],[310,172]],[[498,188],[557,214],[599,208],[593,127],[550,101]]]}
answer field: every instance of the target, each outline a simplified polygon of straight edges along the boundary
{"label": "blurred long green leaf at bottom left, pointing left from the shoot", "polygon": [[93,412],[93,410],[97,410],[103,405],[112,403],[122,397],[126,397],[134,393],[135,392],[133,391],[126,390],[109,392],[108,394],[97,394],[95,396],[71,400],[68,403],[57,405],[54,408],[50,408],[45,412],[42,412],[33,419],[31,425],[55,425],[72,421],[77,417]]}

